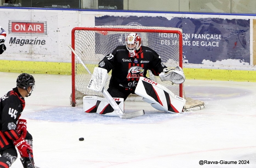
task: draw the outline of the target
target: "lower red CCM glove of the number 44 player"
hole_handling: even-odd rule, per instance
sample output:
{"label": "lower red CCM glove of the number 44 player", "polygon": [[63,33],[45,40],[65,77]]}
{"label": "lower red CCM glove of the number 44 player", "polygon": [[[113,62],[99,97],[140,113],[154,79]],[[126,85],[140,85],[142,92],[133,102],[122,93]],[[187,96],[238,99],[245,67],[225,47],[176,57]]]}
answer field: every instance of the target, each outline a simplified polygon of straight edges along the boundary
{"label": "lower red CCM glove of the number 44 player", "polygon": [[13,144],[19,150],[21,157],[28,157],[28,153],[33,152],[30,145],[25,141],[22,136],[18,140],[14,141]]}

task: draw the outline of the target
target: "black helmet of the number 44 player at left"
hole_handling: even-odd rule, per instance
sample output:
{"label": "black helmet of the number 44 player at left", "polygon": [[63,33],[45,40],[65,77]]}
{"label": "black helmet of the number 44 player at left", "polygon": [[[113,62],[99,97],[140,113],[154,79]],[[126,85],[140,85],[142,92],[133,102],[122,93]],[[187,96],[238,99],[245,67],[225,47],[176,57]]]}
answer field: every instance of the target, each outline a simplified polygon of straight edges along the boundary
{"label": "black helmet of the number 44 player at left", "polygon": [[35,79],[30,74],[20,74],[17,78],[17,87],[27,90],[29,86],[35,85]]}

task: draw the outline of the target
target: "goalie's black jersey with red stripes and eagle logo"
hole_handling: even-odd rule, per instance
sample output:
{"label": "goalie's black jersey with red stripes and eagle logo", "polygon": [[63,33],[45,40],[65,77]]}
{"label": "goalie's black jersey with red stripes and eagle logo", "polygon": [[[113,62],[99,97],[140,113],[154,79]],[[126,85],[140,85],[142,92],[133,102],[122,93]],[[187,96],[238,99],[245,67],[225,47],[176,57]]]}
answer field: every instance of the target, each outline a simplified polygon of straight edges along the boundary
{"label": "goalie's black jersey with red stripes and eagle logo", "polygon": [[158,76],[166,66],[160,56],[151,48],[141,46],[134,57],[126,46],[117,46],[116,49],[100,61],[99,67],[112,70],[110,85],[135,89],[140,76],[146,77],[150,70]]}

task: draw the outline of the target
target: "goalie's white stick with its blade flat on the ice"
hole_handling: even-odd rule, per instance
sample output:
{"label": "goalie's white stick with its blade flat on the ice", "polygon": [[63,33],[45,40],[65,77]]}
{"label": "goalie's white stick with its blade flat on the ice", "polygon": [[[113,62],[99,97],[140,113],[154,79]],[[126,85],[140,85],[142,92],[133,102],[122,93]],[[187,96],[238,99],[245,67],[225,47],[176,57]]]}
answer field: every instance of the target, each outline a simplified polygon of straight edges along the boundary
{"label": "goalie's white stick with its blade flat on the ice", "polygon": [[[86,69],[86,71],[88,71],[88,73],[90,75],[92,75],[91,71],[86,67],[86,65],[84,64],[84,62],[81,60],[81,58],[76,54],[75,50],[71,47],[71,45],[69,44],[68,47],[71,49],[71,51],[75,54],[76,58],[79,60],[79,62],[84,66],[84,68]],[[117,115],[122,118],[122,119],[128,119],[128,118],[134,118],[134,117],[138,117],[141,115],[144,115],[145,112],[144,110],[139,110],[139,111],[135,111],[132,113],[124,113],[121,108],[117,105],[116,101],[113,100],[112,96],[108,93],[108,91],[103,87],[101,93],[103,94],[103,96],[106,98],[106,100],[108,101],[108,103],[111,105],[111,107],[116,111]]]}

